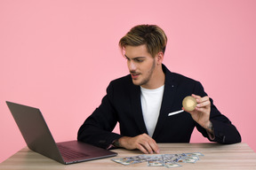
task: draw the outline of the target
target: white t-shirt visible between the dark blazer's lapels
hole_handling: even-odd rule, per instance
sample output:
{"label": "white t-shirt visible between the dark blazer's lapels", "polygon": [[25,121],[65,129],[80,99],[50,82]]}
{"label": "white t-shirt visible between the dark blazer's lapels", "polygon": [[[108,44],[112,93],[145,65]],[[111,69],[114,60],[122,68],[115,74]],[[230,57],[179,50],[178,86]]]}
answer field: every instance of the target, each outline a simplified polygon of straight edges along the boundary
{"label": "white t-shirt visible between the dark blazer's lapels", "polygon": [[161,109],[164,85],[157,89],[144,89],[140,86],[140,89],[142,114],[148,130],[148,135],[152,137]]}

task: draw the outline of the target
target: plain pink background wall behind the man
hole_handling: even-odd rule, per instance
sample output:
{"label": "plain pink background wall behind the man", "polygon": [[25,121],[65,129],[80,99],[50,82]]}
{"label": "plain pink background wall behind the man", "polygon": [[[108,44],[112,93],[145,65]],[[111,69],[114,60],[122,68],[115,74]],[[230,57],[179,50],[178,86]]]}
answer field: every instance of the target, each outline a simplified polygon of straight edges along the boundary
{"label": "plain pink background wall behind the man", "polygon": [[[117,43],[138,24],[164,29],[164,64],[201,81],[256,151],[255,9],[254,0],[1,0],[0,162],[26,145],[5,101],[40,108],[57,142],[76,139],[108,82],[128,73]],[[208,141],[195,130],[191,142]]]}

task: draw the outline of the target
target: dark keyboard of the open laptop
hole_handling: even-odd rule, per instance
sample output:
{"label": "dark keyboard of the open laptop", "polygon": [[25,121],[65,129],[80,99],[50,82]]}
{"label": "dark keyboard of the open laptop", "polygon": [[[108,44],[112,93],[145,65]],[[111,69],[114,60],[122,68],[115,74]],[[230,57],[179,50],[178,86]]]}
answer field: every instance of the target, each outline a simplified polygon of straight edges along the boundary
{"label": "dark keyboard of the open laptop", "polygon": [[58,144],[58,148],[60,150],[61,156],[66,159],[84,158],[84,157],[89,156],[85,153],[82,153],[79,151],[74,151],[66,146],[61,145],[61,144]]}

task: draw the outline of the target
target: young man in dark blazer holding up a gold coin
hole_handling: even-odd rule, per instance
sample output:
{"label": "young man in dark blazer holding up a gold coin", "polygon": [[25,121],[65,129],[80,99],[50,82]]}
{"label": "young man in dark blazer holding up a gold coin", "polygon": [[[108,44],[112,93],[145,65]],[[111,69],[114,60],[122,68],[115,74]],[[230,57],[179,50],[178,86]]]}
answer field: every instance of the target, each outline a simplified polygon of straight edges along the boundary
{"label": "young man in dark blazer holding up a gold coin", "polygon": [[[189,143],[196,127],[212,142],[241,142],[236,127],[217,110],[200,82],[162,64],[166,43],[164,31],[155,25],[132,27],[120,40],[130,74],[110,82],[99,108],[79,129],[79,141],[159,153],[157,143]],[[187,96],[196,98],[196,109],[168,116],[182,108]],[[117,122],[120,135],[112,132]]]}

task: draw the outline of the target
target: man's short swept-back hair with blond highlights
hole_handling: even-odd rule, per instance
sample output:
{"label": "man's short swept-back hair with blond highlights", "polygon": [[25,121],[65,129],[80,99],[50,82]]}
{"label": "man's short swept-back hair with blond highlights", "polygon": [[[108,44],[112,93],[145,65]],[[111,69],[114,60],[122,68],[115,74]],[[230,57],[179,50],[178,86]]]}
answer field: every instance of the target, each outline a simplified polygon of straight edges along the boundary
{"label": "man's short swept-back hair with blond highlights", "polygon": [[146,44],[148,53],[152,57],[160,51],[164,53],[167,43],[167,36],[164,30],[156,25],[139,25],[124,35],[119,41],[119,46],[123,50],[125,46],[140,46]]}

